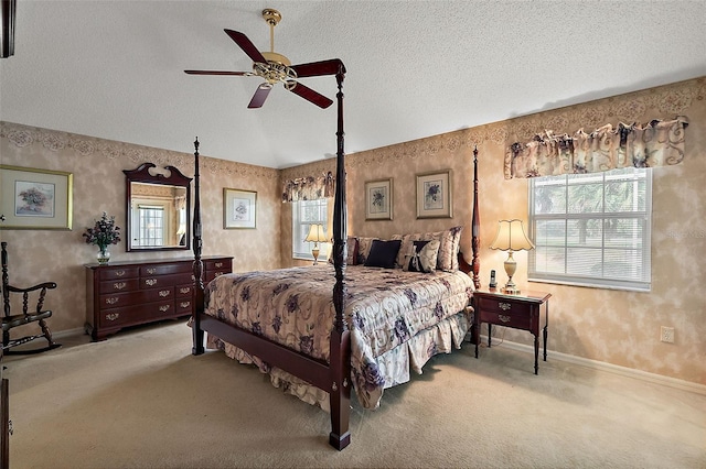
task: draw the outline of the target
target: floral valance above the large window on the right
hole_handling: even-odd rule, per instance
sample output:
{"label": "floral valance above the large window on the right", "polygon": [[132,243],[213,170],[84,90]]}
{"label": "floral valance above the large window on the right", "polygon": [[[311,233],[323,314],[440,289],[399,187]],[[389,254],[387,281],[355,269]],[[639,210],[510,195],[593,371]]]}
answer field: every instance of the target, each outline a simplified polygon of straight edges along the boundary
{"label": "floral valance above the large window on the right", "polygon": [[550,130],[532,141],[513,143],[505,154],[505,178],[599,173],[620,167],[656,167],[684,159],[683,117],[646,126],[610,123],[591,133],[555,135]]}

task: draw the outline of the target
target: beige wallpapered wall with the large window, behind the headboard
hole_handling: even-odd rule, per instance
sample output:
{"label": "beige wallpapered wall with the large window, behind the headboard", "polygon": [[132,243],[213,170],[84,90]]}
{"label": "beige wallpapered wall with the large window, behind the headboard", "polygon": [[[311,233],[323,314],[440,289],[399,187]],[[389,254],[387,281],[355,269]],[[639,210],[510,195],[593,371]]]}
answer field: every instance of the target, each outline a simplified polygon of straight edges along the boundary
{"label": "beige wallpapered wall with the large window, behind the headboard", "polygon": [[[527,219],[527,181],[504,179],[503,161],[513,142],[554,130],[591,131],[605,123],[648,122],[686,116],[686,155],[681,165],[653,171],[652,292],[635,293],[527,282],[527,255],[515,254],[521,287],[552,293],[549,350],[706,384],[706,302],[700,287],[706,258],[706,79],[699,78],[608,99],[560,108],[488,126],[435,135],[346,156],[349,233],[388,238],[393,233],[462,225],[463,252],[470,253],[472,151],[479,150],[481,282],[490,270],[505,282],[506,254],[490,250],[496,221]],[[332,148],[335,141],[332,138]],[[333,160],[282,171],[282,178],[334,171]],[[453,218],[416,219],[415,175],[451,168]],[[364,184],[393,177],[393,221],[366,221]],[[526,221],[525,221],[526,223]],[[291,212],[282,210],[282,229]],[[291,260],[290,233],[281,238],[284,264]],[[675,342],[660,341],[660,326],[675,328]],[[498,330],[499,328],[496,328]],[[531,345],[526,332],[505,339]]]}

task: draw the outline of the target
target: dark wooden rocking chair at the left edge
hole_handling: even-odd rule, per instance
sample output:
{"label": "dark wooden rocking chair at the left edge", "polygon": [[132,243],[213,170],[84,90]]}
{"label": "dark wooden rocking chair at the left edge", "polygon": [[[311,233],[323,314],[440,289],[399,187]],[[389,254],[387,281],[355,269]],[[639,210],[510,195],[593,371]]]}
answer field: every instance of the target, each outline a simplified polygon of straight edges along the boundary
{"label": "dark wooden rocking chair at the left edge", "polygon": [[[46,325],[45,319],[52,316],[51,310],[42,310],[44,306],[44,297],[46,296],[47,290],[56,288],[56,284],[54,282],[44,282],[39,285],[31,286],[29,288],[18,288],[17,286],[10,285],[8,281],[8,251],[7,242],[0,243],[2,246],[2,302],[4,307],[4,315],[2,316],[2,350],[4,355],[26,355],[26,353],[39,353],[46,350],[52,350],[57,347],[61,347],[61,343],[54,342],[52,339],[52,332]],[[30,293],[39,291],[39,301],[36,303],[36,308],[34,310],[29,310],[29,298]],[[21,293],[22,294],[22,313],[21,314],[11,314],[10,313],[10,293]],[[10,339],[10,329],[23,326],[25,324],[39,321],[40,328],[42,329],[42,334],[33,335],[33,336],[24,336],[18,339]],[[26,343],[34,339],[45,338],[49,345],[46,347],[38,348],[38,349],[20,349],[20,350],[9,350],[12,347],[21,346],[22,343]]]}

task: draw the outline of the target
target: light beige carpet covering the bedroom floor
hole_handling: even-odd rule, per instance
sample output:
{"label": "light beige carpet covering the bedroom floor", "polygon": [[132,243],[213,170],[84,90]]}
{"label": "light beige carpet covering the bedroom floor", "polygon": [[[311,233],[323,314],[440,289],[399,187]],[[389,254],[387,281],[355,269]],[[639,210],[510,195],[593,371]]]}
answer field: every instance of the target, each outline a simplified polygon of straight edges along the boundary
{"label": "light beige carpet covering the bedroom floor", "polygon": [[327,413],[222,352],[191,356],[183,321],[6,366],[12,468],[706,468],[706,396],[550,353],[534,375],[502,346],[435,358],[377,411],[353,399],[341,452]]}

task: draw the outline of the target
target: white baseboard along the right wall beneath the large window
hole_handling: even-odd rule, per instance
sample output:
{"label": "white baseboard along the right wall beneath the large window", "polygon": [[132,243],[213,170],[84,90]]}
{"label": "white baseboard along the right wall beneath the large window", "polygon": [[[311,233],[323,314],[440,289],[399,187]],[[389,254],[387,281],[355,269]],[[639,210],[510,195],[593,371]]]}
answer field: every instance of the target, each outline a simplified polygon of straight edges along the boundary
{"label": "white baseboard along the right wall beneath the large window", "polygon": [[[481,336],[481,343],[488,343],[488,336]],[[532,353],[532,356],[534,357],[533,346],[517,343],[506,339],[503,340],[502,346],[505,346],[509,349]],[[493,346],[493,347],[500,347],[500,345]],[[542,355],[542,350],[539,350],[539,355]],[[568,363],[579,364],[582,367],[592,368],[601,371],[608,371],[610,373],[620,374],[622,377],[635,378],[638,380],[648,381],[656,384],[663,384],[665,386],[706,395],[706,385],[694,383],[692,381],[677,380],[676,378],[663,377],[662,374],[649,373],[646,371],[635,370],[627,367],[620,367],[618,364],[607,363],[605,361],[591,360],[588,358],[576,357],[573,355],[561,353],[553,350],[547,350],[547,360],[548,359],[566,361]]]}

